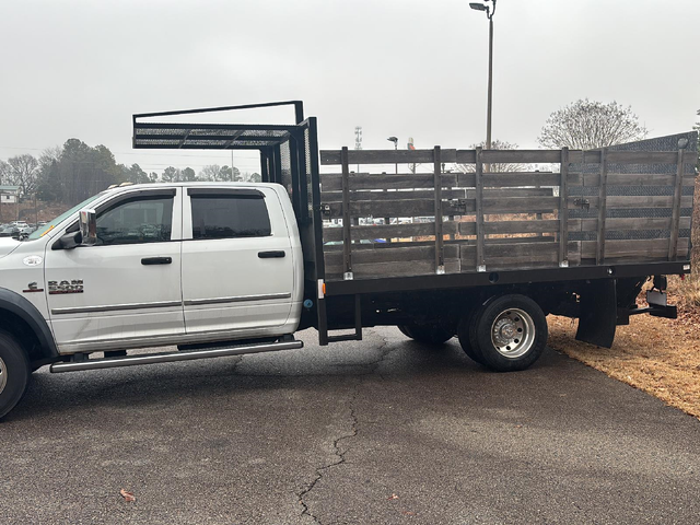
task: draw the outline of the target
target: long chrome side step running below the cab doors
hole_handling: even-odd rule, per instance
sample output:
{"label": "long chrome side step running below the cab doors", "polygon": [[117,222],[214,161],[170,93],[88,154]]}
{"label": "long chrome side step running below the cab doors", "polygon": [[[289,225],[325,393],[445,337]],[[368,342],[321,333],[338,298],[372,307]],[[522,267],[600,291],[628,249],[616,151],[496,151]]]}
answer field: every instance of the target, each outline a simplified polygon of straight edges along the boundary
{"label": "long chrome side step running below the cab doors", "polygon": [[82,370],[115,369],[117,366],[133,366],[137,364],[172,363],[174,361],[190,361],[192,359],[223,358],[244,353],[273,352],[277,350],[294,350],[302,348],[302,341],[266,342],[261,345],[245,345],[231,348],[211,348],[202,350],[187,350],[183,352],[148,353],[142,355],[127,355],[126,358],[85,359],[70,363],[54,363],[50,371],[78,372]]}

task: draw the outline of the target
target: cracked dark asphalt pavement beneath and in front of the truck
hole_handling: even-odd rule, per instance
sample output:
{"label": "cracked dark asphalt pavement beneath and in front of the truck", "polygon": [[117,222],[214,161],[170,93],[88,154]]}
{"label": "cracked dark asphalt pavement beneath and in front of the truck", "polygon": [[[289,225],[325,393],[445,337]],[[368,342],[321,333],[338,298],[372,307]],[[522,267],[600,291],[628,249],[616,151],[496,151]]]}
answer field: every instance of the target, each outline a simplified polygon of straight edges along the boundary
{"label": "cracked dark asphalt pavement beneath and in front of the truck", "polygon": [[[3,524],[698,523],[700,422],[455,339],[50,374],[0,422]],[[121,489],[135,494],[127,502]]]}

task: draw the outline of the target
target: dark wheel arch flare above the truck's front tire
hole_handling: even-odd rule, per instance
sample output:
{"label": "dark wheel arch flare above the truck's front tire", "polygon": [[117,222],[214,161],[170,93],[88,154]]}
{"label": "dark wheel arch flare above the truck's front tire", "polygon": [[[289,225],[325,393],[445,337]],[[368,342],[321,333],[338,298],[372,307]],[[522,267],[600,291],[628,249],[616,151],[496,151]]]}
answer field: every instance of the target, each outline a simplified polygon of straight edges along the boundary
{"label": "dark wheel arch flare above the truck's front tire", "polygon": [[40,312],[30,301],[0,288],[0,329],[18,338],[33,364],[55,361],[58,349]]}

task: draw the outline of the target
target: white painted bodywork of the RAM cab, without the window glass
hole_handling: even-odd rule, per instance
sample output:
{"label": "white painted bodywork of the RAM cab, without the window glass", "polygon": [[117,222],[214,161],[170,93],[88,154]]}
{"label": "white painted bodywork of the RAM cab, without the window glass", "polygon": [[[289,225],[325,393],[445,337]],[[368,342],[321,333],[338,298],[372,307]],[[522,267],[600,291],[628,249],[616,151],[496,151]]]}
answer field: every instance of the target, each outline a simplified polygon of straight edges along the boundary
{"label": "white painted bodywork of the RAM cab, without the window glass", "polygon": [[[202,197],[259,192],[269,234],[194,238],[191,188],[205,191]],[[120,207],[133,215],[128,207],[137,202],[143,217],[154,220],[141,225],[148,233],[159,226],[158,206],[149,203],[158,205],[164,190],[174,194],[167,240],[153,242],[137,232],[121,244],[56,249],[75,229],[78,210],[49,223],[42,236],[39,230],[35,238],[0,240],[2,287],[40,312],[60,354],[275,337],[296,329],[303,258],[284,189],[244,183],[135,185],[106,190],[88,207],[105,210],[97,213],[100,230],[103,218]],[[264,253],[283,256],[260,258]],[[170,262],[143,262],[159,258]]]}

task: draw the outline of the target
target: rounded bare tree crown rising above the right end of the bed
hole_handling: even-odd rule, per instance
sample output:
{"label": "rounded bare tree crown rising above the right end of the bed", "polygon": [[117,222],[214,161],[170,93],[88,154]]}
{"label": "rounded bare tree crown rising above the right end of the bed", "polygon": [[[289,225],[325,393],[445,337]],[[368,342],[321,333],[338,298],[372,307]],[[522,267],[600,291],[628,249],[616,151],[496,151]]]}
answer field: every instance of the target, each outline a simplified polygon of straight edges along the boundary
{"label": "rounded bare tree crown rising above the right end of the bed", "polygon": [[630,106],[585,98],[552,113],[537,141],[549,149],[593,150],[640,140],[646,133]]}

